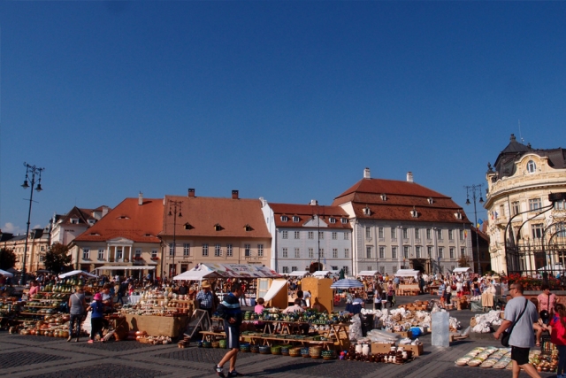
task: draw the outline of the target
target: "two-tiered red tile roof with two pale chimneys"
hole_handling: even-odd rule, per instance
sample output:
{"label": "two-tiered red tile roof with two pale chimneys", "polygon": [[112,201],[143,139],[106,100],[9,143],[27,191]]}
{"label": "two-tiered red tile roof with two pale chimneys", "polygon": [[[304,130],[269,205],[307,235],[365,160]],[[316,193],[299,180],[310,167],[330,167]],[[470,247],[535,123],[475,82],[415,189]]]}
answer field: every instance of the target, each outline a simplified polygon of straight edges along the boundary
{"label": "two-tiered red tile roof with two pale chimneys", "polygon": [[[386,200],[382,198],[383,195]],[[463,208],[455,204],[452,198],[416,182],[362,179],[334,198],[333,205],[349,202],[358,219],[470,223]],[[363,212],[366,206],[370,209],[369,215]],[[417,211],[417,218],[411,215],[413,209]],[[456,212],[462,213],[462,220],[455,217]]]}

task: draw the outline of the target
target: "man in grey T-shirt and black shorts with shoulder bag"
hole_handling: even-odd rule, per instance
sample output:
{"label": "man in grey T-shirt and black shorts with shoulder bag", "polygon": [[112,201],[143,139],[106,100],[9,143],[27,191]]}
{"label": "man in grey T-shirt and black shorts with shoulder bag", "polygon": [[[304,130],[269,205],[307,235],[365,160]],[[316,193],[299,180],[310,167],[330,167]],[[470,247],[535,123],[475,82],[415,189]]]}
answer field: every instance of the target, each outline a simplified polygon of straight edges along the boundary
{"label": "man in grey T-shirt and black shorts with shoulder bag", "polygon": [[[511,346],[511,360],[513,360],[513,378],[518,378],[521,369],[533,378],[540,378],[537,369],[529,363],[529,350],[534,347],[534,329],[532,324],[539,320],[537,307],[527,298],[523,297],[523,285],[513,283],[509,287],[511,300],[505,306],[505,320],[493,334],[499,336],[515,323],[509,337]],[[521,314],[523,312],[523,314]]]}

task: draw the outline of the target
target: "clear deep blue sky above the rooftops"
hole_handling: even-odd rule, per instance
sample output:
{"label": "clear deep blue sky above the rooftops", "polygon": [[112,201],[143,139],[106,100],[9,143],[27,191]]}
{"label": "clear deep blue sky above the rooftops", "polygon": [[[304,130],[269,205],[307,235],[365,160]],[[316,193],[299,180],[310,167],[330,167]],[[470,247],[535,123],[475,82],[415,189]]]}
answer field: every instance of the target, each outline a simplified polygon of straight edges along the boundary
{"label": "clear deep blue sky above the rooftops", "polygon": [[3,1],[0,228],[25,232],[24,162],[45,167],[32,227],[140,191],[331,204],[366,166],[473,219],[463,186],[511,133],[566,147],[565,19],[566,2]]}

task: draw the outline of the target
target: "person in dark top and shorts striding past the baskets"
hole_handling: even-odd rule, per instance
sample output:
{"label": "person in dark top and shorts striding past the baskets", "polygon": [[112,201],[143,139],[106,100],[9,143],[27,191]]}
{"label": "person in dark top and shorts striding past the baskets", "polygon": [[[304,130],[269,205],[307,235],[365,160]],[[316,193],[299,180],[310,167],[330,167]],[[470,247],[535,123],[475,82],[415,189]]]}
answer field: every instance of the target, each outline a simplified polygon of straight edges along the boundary
{"label": "person in dark top and shorts striding past the baskets", "polygon": [[240,351],[240,325],[241,325],[241,307],[238,297],[241,297],[242,290],[239,283],[233,283],[231,293],[224,297],[224,300],[218,305],[218,316],[224,319],[224,330],[226,332],[226,348],[230,351],[220,360],[218,365],[214,366],[214,371],[222,378],[226,377],[223,367],[226,362],[230,361],[229,377],[237,377],[240,374],[236,371],[236,359],[238,351]]}

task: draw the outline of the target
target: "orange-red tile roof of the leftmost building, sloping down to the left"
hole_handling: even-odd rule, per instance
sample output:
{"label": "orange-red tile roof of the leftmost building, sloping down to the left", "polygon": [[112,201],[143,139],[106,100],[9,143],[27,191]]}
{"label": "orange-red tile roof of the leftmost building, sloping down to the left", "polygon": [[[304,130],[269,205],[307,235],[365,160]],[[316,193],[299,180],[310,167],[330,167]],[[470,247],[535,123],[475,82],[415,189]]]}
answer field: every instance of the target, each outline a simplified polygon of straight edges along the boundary
{"label": "orange-red tile roof of the leftmost building, sloping down to the left", "polygon": [[137,197],[126,198],[74,240],[104,242],[125,237],[136,243],[160,243],[157,235],[163,224],[163,209],[162,198],[144,198],[142,205],[138,204]]}

